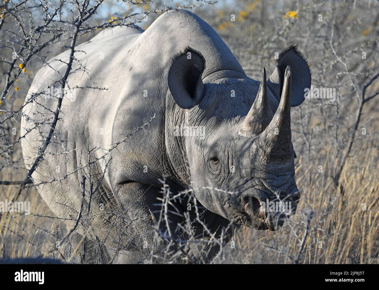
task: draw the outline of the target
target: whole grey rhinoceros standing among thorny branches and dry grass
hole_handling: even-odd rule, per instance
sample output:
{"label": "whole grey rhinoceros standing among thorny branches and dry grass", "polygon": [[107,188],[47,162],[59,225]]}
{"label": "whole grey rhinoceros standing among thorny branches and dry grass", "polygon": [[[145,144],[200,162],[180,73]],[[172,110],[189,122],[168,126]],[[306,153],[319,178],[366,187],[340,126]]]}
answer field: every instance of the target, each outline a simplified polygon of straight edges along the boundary
{"label": "whole grey rhinoceros standing among thorny branches and dry grass", "polygon": [[[68,58],[66,51],[38,71],[27,101],[52,88]],[[174,238],[188,238],[186,214],[193,237],[223,235],[224,242],[241,225],[280,228],[290,215],[266,210],[264,203],[291,202],[294,214],[300,195],[290,109],[304,101],[311,84],[309,65],[296,46],[279,54],[268,80],[263,68],[255,81],[215,30],[178,9],[158,17],[146,31],[105,29],[79,45],[75,58],[67,79],[75,95],[64,96],[54,136],[33,174],[49,208],[73,217],[66,219],[68,226],[81,206],[83,175],[91,211],[103,206],[138,219],[132,226],[137,238],[125,245],[128,250],[143,251],[147,245],[152,251],[158,239],[152,229],[162,217],[167,189],[194,193],[193,199],[166,203],[159,230]],[[31,130],[22,141],[29,168],[55,108],[56,98],[47,94],[25,106],[21,135]],[[92,195],[91,186],[96,188]],[[188,206],[194,202],[204,210]],[[93,223],[110,235],[120,216],[116,222],[98,216],[103,217]],[[128,233],[130,225],[119,224]]]}

